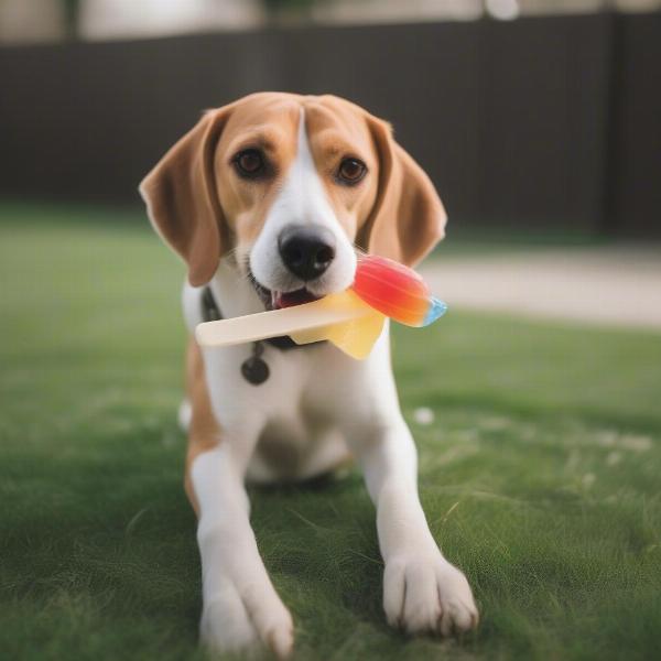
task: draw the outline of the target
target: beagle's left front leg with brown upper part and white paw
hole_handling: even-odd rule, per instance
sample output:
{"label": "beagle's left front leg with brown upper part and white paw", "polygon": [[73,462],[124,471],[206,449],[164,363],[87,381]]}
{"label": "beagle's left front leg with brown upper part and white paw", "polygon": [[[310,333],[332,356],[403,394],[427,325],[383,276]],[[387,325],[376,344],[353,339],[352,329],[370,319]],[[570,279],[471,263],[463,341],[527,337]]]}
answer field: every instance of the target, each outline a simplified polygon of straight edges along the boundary
{"label": "beagle's left front leg with brown upper part and white paw", "polygon": [[194,345],[187,371],[193,415],[186,491],[198,514],[203,642],[218,651],[247,651],[261,642],[284,658],[293,646],[292,618],[259,555],[243,486],[259,427],[249,429],[247,421],[239,443],[218,429]]}

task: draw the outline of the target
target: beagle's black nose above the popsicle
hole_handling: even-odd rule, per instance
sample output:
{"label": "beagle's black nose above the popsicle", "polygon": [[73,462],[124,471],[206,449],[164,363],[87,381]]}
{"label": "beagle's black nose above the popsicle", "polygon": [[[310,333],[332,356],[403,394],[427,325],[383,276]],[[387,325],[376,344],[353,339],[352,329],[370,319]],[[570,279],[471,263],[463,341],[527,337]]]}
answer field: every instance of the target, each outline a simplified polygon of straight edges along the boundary
{"label": "beagle's black nose above the popsicle", "polygon": [[314,280],[335,257],[335,237],[324,227],[292,225],[280,234],[278,248],[284,266],[296,278]]}

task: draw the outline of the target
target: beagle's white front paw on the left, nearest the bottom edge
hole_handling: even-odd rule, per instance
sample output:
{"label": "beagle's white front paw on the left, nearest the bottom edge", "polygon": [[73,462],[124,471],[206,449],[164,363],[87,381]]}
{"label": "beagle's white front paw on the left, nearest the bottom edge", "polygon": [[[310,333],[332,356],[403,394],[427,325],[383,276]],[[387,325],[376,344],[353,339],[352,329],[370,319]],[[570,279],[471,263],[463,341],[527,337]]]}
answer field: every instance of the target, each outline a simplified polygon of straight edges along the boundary
{"label": "beagle's white front paw on the left, nearest the bottom edge", "polygon": [[227,582],[205,599],[199,635],[217,652],[257,655],[263,648],[286,659],[294,644],[293,622],[280,597],[270,589],[248,586],[239,590]]}

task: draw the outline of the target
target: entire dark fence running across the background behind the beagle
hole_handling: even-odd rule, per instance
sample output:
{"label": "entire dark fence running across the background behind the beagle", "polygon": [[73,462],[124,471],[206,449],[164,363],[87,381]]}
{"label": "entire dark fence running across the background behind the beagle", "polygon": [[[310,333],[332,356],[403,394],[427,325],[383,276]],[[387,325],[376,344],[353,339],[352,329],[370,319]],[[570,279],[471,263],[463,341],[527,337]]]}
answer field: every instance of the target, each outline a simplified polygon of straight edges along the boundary
{"label": "entire dark fence running across the background behind the beagle", "polygon": [[0,192],[134,201],[202,109],[281,89],[389,119],[455,221],[649,232],[660,43],[590,15],[1,48]]}

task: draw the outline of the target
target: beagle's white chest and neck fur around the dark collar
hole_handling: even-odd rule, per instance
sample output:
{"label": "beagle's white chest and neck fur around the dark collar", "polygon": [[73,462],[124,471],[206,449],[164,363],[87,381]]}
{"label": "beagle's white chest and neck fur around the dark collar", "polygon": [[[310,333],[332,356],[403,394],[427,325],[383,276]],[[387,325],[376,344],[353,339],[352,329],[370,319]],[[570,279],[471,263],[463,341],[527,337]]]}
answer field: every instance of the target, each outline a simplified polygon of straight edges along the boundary
{"label": "beagle's white chest and neck fur around the dark collar", "polygon": [[[238,316],[258,311],[254,293],[225,271],[221,267],[224,278],[213,283],[224,313]],[[201,293],[184,288],[184,316],[191,332],[202,321]],[[365,361],[329,344],[281,350],[264,343],[263,348],[269,378],[260,384],[241,373],[252,355],[251,345],[203,351],[221,436],[239,445],[242,438],[259,438],[247,473],[254,481],[300,480],[333,469],[348,458],[348,434],[369,434],[370,425],[379,424],[373,420],[375,403],[397,401],[387,329]]]}

